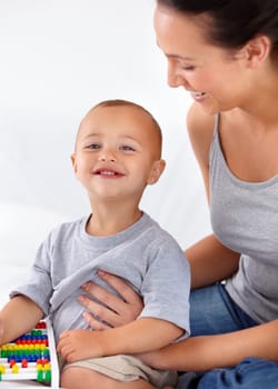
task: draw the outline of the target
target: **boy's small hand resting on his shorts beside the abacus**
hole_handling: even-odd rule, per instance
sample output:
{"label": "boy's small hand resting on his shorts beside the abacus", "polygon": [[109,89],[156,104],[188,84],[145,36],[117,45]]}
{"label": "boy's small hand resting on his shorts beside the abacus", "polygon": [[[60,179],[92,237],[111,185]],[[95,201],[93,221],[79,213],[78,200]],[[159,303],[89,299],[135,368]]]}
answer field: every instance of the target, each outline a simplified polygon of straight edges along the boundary
{"label": "boy's small hand resting on his shorts beside the abacus", "polygon": [[67,362],[75,362],[80,359],[102,357],[105,347],[102,331],[76,329],[64,331],[60,335],[57,352]]}

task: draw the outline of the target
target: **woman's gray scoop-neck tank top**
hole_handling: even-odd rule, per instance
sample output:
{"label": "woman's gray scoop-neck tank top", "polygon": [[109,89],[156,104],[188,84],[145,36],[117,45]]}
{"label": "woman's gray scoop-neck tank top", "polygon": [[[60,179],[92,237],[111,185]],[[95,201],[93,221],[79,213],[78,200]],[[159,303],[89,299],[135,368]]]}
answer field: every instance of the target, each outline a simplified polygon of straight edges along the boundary
{"label": "woman's gray scoop-neck tank top", "polygon": [[264,182],[235,177],[221,150],[216,118],[210,147],[211,226],[225,246],[241,253],[238,272],[226,282],[228,293],[262,323],[278,318],[278,176]]}

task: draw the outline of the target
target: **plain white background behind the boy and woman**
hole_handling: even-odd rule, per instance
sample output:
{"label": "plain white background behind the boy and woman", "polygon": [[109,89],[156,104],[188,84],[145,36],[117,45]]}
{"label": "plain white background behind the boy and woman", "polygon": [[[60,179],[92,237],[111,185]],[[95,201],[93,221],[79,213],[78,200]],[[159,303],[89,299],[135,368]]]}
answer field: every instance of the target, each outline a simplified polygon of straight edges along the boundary
{"label": "plain white background behind the boy and woman", "polygon": [[81,118],[100,100],[133,100],[162,127],[167,169],[141,208],[182,248],[209,232],[185,123],[191,100],[167,86],[153,6],[0,0],[0,303],[49,229],[90,211],[70,153]]}

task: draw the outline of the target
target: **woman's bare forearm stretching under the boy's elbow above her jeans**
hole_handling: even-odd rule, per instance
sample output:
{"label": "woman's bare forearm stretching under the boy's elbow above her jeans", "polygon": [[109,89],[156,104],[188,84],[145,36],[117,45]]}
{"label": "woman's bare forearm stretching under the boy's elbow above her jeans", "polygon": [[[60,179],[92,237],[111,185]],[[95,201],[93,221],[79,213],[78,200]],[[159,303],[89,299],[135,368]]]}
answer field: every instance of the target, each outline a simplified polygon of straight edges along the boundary
{"label": "woman's bare forearm stretching under the boy's elbow above her jeans", "polygon": [[140,358],[157,369],[205,371],[248,357],[278,361],[278,320],[225,335],[195,337]]}

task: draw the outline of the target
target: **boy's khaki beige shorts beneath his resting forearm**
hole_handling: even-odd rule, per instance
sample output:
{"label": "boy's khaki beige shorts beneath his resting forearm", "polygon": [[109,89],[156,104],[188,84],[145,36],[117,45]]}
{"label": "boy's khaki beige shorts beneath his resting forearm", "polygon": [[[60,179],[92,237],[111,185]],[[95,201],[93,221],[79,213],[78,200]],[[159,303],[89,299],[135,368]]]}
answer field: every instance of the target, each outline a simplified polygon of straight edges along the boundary
{"label": "boy's khaki beige shorts beneath his resting forearm", "polygon": [[167,385],[176,386],[178,381],[176,371],[156,370],[136,357],[123,355],[66,363],[63,369],[73,367],[91,369],[122,382],[145,379],[156,388],[162,388]]}

